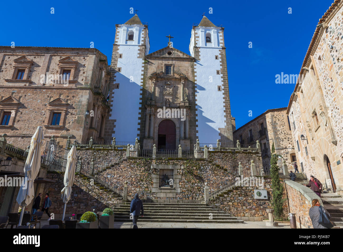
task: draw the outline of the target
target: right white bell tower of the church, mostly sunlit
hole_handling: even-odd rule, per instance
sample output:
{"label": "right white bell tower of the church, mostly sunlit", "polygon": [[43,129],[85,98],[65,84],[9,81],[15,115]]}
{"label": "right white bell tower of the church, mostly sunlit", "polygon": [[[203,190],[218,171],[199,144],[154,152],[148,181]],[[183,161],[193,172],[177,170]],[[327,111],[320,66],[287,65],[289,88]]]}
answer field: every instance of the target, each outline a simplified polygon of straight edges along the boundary
{"label": "right white bell tower of the church, mostly sunlit", "polygon": [[196,58],[197,136],[203,143],[233,144],[224,28],[203,16],[193,26],[189,51]]}

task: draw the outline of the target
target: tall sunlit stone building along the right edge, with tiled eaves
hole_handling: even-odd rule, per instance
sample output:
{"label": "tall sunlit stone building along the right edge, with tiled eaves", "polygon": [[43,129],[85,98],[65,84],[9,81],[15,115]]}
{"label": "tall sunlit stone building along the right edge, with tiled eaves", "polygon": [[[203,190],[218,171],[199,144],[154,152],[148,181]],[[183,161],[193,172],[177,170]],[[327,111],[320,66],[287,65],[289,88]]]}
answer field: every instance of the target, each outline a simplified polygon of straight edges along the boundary
{"label": "tall sunlit stone building along the right edge, with tiled eaves", "polygon": [[322,16],[287,107],[298,167],[343,193],[343,1]]}

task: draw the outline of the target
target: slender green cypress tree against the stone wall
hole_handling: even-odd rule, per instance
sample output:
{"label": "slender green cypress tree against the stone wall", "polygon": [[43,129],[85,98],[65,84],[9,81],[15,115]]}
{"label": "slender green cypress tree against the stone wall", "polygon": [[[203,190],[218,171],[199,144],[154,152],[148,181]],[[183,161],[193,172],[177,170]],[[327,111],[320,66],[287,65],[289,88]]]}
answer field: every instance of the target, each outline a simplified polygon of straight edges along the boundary
{"label": "slender green cypress tree against the stone wall", "polygon": [[270,174],[272,177],[272,206],[274,208],[274,216],[276,219],[280,219],[282,215],[282,205],[284,200],[282,199],[283,185],[279,179],[279,166],[277,165],[278,155],[275,153],[274,143],[272,145],[271,159],[270,159]]}

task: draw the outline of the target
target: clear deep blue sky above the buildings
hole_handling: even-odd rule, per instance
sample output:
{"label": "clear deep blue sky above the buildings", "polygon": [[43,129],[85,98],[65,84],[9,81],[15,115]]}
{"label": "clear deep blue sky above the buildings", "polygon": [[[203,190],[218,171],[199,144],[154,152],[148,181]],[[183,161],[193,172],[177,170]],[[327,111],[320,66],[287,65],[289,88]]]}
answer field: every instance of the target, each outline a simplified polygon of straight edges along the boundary
{"label": "clear deep blue sky above the buildings", "polygon": [[89,47],[93,41],[110,64],[115,24],[129,20],[132,7],[149,24],[150,53],[167,46],[170,34],[173,46],[189,54],[192,25],[205,12],[225,27],[231,112],[238,128],[267,109],[288,106],[295,84],[275,84],[275,75],[299,73],[318,20],[332,2],[4,1],[0,45]]}

